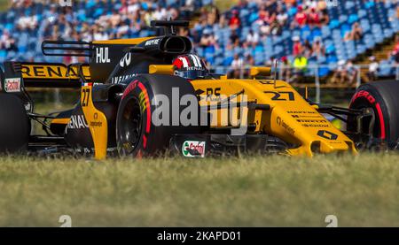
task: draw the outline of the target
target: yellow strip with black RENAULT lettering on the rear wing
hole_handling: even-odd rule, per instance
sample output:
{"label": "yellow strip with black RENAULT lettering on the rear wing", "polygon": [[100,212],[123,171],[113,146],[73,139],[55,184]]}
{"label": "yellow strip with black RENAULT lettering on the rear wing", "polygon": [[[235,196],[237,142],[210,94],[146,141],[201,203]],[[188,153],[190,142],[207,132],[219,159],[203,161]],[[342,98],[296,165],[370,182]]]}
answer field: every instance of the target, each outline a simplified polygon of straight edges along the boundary
{"label": "yellow strip with black RENAULT lettering on the rear wing", "polygon": [[[82,66],[83,75],[86,79],[90,79],[89,66]],[[40,80],[74,80],[78,79],[77,67],[73,66],[69,69],[66,65],[36,65],[36,64],[22,64],[21,65],[22,78],[24,79],[40,79]]]}

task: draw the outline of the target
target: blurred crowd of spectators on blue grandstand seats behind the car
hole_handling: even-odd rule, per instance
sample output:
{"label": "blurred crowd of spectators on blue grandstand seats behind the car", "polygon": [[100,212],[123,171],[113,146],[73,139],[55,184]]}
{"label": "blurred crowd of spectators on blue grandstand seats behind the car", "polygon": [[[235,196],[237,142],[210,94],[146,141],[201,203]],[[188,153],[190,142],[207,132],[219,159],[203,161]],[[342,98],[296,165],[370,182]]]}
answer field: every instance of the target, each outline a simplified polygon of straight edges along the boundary
{"label": "blurred crowd of spectators on blue grandstand seats behind the car", "polygon": [[[179,34],[192,39],[208,65],[230,66],[228,72],[233,77],[243,75],[243,65],[272,65],[278,59],[285,65],[281,72],[289,81],[309,74],[309,65],[333,64],[320,70],[321,75],[332,73],[333,83],[353,83],[358,72],[353,57],[370,44],[364,37],[371,31],[364,30],[360,21],[369,18],[370,8],[378,11],[375,6],[385,1],[348,2],[360,4],[364,10],[356,10],[347,1],[324,0],[239,0],[224,12],[213,0],[85,0],[73,1],[73,7],[61,7],[58,0],[13,0],[11,8],[0,14],[0,62],[60,62],[58,57],[43,57],[43,40],[135,38],[155,34],[149,28],[153,19],[191,19],[192,28],[181,28]],[[397,8],[396,1],[391,2]],[[334,3],[341,5],[328,5]],[[381,8],[385,11],[385,6]],[[366,12],[363,17],[362,11]],[[343,13],[348,19],[341,19]],[[388,64],[397,64],[397,50],[396,45]],[[372,58],[370,64],[376,63]],[[62,60],[77,61],[74,57]],[[370,70],[374,79],[372,74],[377,74],[379,67]]]}

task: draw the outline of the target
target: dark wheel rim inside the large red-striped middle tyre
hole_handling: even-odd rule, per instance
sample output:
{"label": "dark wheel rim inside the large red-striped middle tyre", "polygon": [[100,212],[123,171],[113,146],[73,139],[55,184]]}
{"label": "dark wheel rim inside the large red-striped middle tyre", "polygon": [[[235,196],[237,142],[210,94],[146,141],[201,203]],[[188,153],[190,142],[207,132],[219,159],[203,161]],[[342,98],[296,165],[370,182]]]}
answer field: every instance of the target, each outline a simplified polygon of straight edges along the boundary
{"label": "dark wheel rim inside the large red-striped middle tyre", "polygon": [[142,112],[137,98],[132,97],[125,104],[121,114],[121,149],[125,154],[132,153],[140,142]]}

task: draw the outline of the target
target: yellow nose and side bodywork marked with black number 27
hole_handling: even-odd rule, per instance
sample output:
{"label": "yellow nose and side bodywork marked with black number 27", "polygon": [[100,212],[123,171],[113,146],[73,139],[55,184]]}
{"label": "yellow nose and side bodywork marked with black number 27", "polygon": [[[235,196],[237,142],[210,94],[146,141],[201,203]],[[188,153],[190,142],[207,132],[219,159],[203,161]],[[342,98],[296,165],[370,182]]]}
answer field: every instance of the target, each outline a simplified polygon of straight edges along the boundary
{"label": "yellow nose and side bodywork marked with black number 27", "polygon": [[[287,149],[289,155],[312,157],[315,151],[356,153],[354,143],[283,80],[192,80],[192,85],[204,91],[200,105],[215,105],[233,95],[239,95],[238,101],[270,105],[270,110],[248,110],[246,123],[255,126],[250,134],[275,135],[295,145]],[[222,116],[227,110],[210,110],[217,118],[211,125],[229,126]]]}

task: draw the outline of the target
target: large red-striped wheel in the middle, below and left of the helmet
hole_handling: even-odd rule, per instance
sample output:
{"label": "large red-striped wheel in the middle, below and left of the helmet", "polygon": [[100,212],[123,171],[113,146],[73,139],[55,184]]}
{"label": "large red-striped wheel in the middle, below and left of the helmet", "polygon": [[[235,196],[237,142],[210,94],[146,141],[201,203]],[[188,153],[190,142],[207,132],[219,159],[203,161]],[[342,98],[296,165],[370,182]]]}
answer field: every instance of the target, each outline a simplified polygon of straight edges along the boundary
{"label": "large red-striped wheel in the middle, below and left of the helmet", "polygon": [[[176,88],[178,95],[172,97],[172,89]],[[174,134],[199,134],[200,126],[173,125],[172,112],[168,123],[160,125],[153,122],[158,104],[153,103],[155,96],[168,98],[168,110],[177,110],[180,115],[184,107],[172,103],[172,100],[180,101],[184,95],[195,97],[194,88],[189,81],[176,76],[145,74],[129,81],[116,117],[116,141],[120,156],[159,156],[168,149]],[[172,108],[173,105],[175,108]],[[198,106],[198,101],[195,106]]]}

